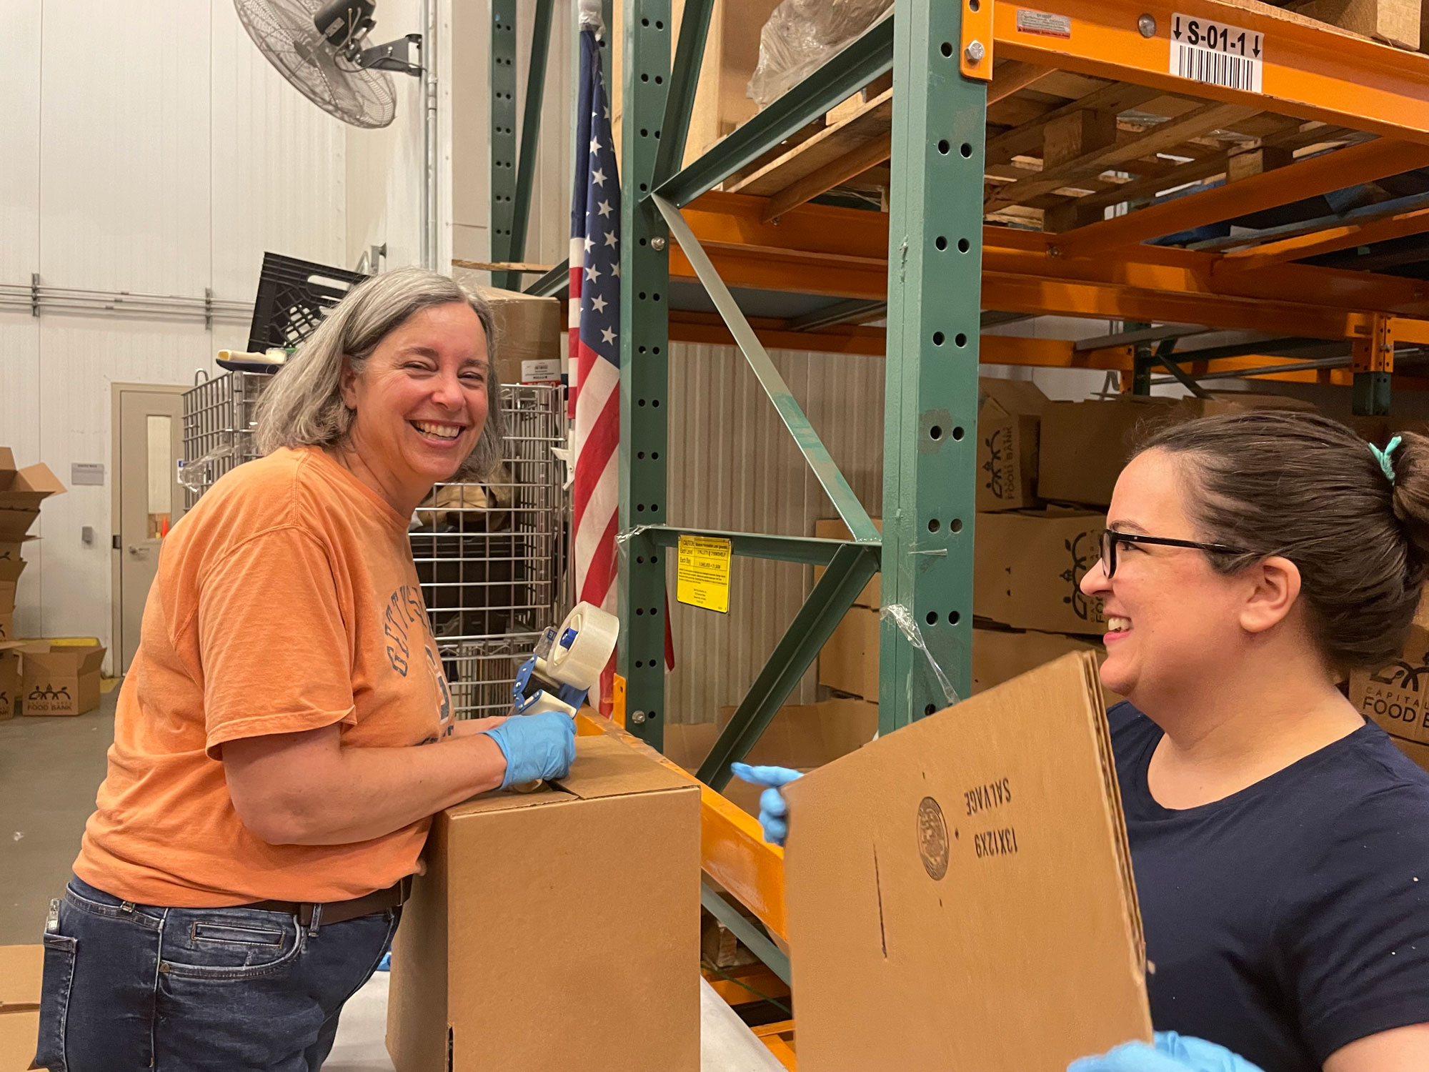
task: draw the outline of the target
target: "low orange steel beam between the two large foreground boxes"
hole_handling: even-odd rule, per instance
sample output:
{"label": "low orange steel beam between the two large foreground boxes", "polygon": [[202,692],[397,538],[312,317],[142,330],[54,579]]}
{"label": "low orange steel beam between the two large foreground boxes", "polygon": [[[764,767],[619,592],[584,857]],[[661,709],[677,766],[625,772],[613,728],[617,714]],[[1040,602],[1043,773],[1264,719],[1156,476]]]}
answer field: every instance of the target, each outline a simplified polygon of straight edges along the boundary
{"label": "low orange steel beam between the two large foreground boxes", "polygon": [[785,850],[765,840],[759,820],[607,719],[577,715],[576,728],[582,736],[604,733],[616,738],[700,786],[702,870],[753,912],[772,935],[787,942]]}

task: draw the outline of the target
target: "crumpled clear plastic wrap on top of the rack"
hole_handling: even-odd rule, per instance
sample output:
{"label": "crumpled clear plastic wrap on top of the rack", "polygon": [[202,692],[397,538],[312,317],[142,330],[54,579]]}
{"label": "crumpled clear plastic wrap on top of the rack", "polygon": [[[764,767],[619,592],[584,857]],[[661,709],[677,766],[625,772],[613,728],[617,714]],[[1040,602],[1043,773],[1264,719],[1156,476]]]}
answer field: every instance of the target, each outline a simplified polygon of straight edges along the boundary
{"label": "crumpled clear plastic wrap on top of the rack", "polygon": [[783,0],[759,33],[749,99],[760,110],[867,30],[893,0]]}

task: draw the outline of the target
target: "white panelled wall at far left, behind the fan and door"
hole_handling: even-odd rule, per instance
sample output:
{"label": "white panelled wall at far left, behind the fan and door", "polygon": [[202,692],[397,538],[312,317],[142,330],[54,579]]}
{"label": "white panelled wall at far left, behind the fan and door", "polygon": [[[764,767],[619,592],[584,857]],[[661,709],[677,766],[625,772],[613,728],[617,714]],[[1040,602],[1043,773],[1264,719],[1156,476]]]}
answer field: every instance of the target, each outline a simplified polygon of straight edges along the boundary
{"label": "white panelled wall at far left, behind the fan and door", "polygon": [[[252,302],[264,249],[347,263],[346,127],[269,67],[231,0],[6,0],[0,39],[0,282]],[[66,483],[73,462],[109,467],[110,383],[191,383],[246,340],[247,323],[0,312],[0,445]],[[37,530],[17,630],[109,643],[110,487],[56,496]]]}

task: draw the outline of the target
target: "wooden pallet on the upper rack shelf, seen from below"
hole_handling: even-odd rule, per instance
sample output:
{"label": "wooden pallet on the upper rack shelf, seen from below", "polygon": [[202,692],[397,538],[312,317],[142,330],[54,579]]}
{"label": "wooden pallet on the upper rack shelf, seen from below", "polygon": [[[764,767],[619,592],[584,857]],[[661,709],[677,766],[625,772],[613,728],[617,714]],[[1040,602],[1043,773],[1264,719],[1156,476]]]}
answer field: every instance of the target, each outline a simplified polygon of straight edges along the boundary
{"label": "wooden pallet on the upper rack shelf, seen from below", "polygon": [[[886,207],[892,119],[890,89],[850,99],[723,189],[766,197],[766,222],[849,189],[883,192]],[[1135,210],[1179,187],[1235,182],[1369,137],[1007,60],[989,87],[985,219],[1065,232],[1112,206]]]}

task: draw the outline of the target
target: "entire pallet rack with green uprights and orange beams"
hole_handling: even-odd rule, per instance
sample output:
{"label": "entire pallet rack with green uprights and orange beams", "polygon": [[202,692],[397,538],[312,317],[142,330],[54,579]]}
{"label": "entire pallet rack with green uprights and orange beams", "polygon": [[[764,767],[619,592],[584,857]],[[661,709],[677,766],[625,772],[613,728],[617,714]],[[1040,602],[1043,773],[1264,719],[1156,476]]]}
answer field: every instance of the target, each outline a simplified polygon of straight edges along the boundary
{"label": "entire pallet rack with green uprights and orange beams", "polygon": [[[686,159],[712,10],[684,0],[676,21],[670,0],[622,0],[619,19],[619,659],[626,739],[659,749],[660,556],[692,535],[666,522],[669,343],[735,343],[857,536],[830,547],[702,533],[735,555],[827,563],[700,770],[706,878],[782,939],[783,853],[717,789],[873,570],[902,612],[882,627],[880,728],[966,695],[979,362],[1137,383],[1147,362],[1177,376],[1285,366],[1269,374],[1352,384],[1363,412],[1383,410],[1392,374],[1396,387],[1429,386],[1393,367],[1395,346],[1429,346],[1429,282],[1403,269],[1429,234],[1429,174],[1406,179],[1429,169],[1429,57],[1255,0],[895,0],[889,19]],[[1222,59],[1208,60],[1190,46],[1212,27]],[[1359,187],[1372,196],[1343,197]],[[886,192],[886,210],[827,203],[850,189]],[[520,260],[512,239],[503,256]],[[1356,264],[1376,243],[1410,247]],[[566,272],[529,290],[559,293]],[[1087,347],[993,327],[1040,314],[1269,342],[1198,357],[1173,349],[1175,333]],[[1349,367],[1296,360],[1295,346],[1326,343],[1349,350]],[[770,347],[886,357],[882,536]],[[582,732],[617,732],[587,722]]]}

